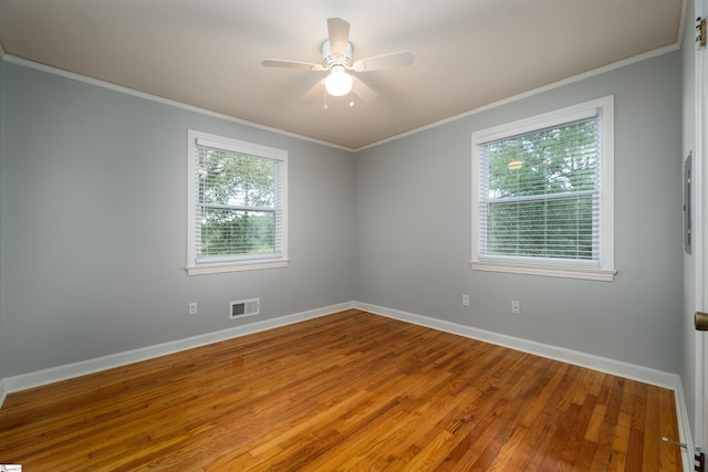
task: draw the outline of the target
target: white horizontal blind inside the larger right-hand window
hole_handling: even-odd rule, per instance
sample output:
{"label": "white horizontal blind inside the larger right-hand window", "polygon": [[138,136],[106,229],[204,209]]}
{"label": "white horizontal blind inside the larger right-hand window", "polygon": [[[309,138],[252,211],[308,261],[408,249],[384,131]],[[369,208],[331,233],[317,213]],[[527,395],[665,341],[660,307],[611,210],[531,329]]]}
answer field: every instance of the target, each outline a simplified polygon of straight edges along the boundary
{"label": "white horizontal blind inside the larger right-hand window", "polygon": [[480,261],[598,266],[600,115],[480,147]]}

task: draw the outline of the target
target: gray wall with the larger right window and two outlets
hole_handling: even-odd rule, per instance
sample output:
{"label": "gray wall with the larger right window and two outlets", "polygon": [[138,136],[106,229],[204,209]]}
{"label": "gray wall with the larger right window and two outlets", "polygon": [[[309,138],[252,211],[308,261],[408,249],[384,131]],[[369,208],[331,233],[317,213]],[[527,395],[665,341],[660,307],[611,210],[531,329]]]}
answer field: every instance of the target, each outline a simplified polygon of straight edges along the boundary
{"label": "gray wall with the larger right window and two outlets", "polygon": [[[675,52],[360,153],[357,300],[678,373],[680,87]],[[615,96],[615,281],[471,271],[471,133],[606,95]]]}

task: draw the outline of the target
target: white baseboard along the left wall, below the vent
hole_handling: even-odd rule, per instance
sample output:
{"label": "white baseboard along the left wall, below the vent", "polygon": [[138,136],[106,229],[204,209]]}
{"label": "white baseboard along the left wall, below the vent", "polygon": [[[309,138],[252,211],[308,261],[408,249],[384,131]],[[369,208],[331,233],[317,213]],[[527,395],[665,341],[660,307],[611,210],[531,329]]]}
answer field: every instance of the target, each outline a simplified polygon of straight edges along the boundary
{"label": "white baseboard along the left wall, below the vent", "polygon": [[310,310],[308,312],[285,315],[273,319],[264,319],[260,322],[249,323],[228,329],[207,333],[198,336],[188,337],[186,339],[173,340],[155,346],[147,346],[139,349],[126,350],[123,353],[111,354],[94,359],[82,360],[79,363],[66,364],[63,366],[50,367],[48,369],[34,373],[21,374],[19,376],[8,377],[4,380],[4,390],[9,394],[29,388],[53,384],[60,380],[66,380],[74,377],[81,377],[87,374],[94,374],[101,370],[121,367],[140,360],[153,359],[168,354],[179,353],[199,346],[206,346],[221,340],[232,339],[253,333],[260,333],[268,329],[288,326],[294,323],[317,318],[333,313],[352,308],[352,302],[340,303],[336,305],[325,306],[322,308]]}

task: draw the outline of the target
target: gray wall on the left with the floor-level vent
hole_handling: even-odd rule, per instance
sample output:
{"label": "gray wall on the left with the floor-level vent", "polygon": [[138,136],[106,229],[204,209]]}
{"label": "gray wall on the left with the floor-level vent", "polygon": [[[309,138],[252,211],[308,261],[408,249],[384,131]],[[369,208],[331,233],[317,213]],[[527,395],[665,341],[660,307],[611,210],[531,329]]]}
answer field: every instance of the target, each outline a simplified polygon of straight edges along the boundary
{"label": "gray wall on the left with the floor-level vent", "polygon": [[[353,300],[351,153],[7,62],[0,103],[0,378]],[[290,266],[187,275],[188,128],[289,151]]]}

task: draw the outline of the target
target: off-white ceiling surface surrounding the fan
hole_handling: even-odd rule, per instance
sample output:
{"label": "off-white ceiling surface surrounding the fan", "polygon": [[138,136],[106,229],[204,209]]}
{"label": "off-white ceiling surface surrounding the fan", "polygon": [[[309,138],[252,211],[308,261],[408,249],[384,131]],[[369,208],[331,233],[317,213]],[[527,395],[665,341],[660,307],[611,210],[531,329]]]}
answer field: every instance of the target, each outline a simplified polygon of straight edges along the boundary
{"label": "off-white ceiling surface surrounding the fan", "polygon": [[[20,57],[356,149],[639,54],[676,49],[685,0],[0,0],[0,45]],[[379,97],[300,98],[322,72],[327,18],[351,23]],[[8,59],[8,57],[6,57]]]}

